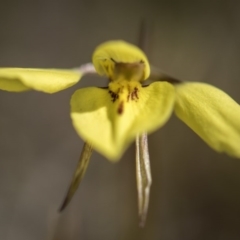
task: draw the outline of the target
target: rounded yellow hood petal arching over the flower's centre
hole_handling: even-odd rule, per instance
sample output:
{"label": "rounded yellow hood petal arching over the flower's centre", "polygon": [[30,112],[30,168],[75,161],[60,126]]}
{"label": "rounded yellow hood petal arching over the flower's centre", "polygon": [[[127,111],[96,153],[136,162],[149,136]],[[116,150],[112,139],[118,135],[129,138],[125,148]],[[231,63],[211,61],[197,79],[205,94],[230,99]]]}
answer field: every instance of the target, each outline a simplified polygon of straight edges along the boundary
{"label": "rounded yellow hood petal arching over the flower's centre", "polygon": [[99,45],[92,57],[98,74],[112,76],[115,63],[144,63],[144,80],[150,75],[150,66],[144,52],[137,46],[125,41],[108,41]]}

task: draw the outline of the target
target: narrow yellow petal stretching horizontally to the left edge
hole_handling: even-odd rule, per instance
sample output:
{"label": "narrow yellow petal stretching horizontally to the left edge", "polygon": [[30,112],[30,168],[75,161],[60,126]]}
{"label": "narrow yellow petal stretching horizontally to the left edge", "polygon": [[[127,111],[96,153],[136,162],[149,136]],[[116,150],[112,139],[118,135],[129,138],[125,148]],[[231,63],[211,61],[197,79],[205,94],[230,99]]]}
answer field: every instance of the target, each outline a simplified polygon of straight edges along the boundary
{"label": "narrow yellow petal stretching horizontally to the left edge", "polygon": [[0,89],[10,92],[38,90],[55,93],[71,87],[81,74],[70,70],[0,68]]}

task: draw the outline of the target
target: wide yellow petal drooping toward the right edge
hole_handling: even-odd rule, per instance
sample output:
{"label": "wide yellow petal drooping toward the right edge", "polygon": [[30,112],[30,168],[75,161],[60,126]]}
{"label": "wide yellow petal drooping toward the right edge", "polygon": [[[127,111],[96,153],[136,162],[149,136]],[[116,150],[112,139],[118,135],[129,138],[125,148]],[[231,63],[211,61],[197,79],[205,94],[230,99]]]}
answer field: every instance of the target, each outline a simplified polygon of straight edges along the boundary
{"label": "wide yellow petal drooping toward the right edge", "polygon": [[240,106],[204,83],[176,85],[176,115],[218,152],[240,158]]}

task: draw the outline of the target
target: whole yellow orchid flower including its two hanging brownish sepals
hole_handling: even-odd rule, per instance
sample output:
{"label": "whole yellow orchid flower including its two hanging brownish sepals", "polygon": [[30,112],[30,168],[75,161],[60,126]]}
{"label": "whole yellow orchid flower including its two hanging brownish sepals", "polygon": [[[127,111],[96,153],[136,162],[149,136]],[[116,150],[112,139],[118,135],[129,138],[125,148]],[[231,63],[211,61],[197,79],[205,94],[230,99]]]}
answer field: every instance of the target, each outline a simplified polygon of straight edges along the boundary
{"label": "whole yellow orchid flower including its two hanging brownish sepals", "polygon": [[145,84],[151,78],[148,59],[138,47],[124,41],[101,44],[92,60],[93,65],[74,71],[0,69],[0,89],[16,92],[57,92],[94,72],[109,79],[106,88],[82,88],[72,95],[73,126],[85,145],[61,209],[76,191],[92,149],[116,161],[136,139],[139,215],[143,225],[151,185],[147,133],[162,127],[173,112],[214,150],[240,158],[240,106],[223,91],[205,83],[175,84],[165,75]]}

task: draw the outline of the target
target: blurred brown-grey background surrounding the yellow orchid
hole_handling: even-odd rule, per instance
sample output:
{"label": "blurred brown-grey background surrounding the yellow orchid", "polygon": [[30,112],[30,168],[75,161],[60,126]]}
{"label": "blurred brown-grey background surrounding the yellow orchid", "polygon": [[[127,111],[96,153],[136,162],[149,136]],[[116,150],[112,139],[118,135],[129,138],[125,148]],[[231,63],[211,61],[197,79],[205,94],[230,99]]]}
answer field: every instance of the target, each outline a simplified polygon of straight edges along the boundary
{"label": "blurred brown-grey background surrounding the yellow orchid", "polygon": [[[239,12],[231,0],[1,1],[0,66],[76,67],[103,41],[138,43],[145,19],[155,66],[240,102]],[[149,137],[145,228],[138,227],[134,146],[116,164],[94,153],[73,201],[58,213],[83,145],[70,96],[106,84],[87,76],[53,95],[0,92],[0,239],[240,239],[240,161],[215,153],[175,116]]]}

